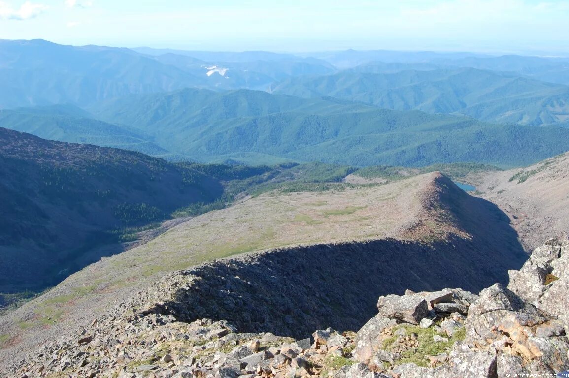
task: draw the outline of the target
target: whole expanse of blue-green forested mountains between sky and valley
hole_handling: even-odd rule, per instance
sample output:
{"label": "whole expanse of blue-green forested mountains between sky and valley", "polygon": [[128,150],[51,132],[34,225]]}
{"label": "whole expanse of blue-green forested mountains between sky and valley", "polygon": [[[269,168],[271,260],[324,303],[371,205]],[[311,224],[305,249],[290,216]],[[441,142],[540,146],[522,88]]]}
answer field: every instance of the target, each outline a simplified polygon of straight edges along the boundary
{"label": "whole expanse of blue-green forested mountains between sky and valley", "polygon": [[569,87],[536,80],[561,58],[44,40],[0,57],[2,127],[170,161],[511,167],[569,149]]}

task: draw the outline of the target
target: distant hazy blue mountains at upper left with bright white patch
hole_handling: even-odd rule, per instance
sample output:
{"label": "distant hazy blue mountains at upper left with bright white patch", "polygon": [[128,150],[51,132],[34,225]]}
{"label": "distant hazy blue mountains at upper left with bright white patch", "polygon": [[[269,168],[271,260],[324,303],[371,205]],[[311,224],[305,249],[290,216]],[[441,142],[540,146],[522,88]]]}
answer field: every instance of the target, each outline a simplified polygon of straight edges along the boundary
{"label": "distant hazy blue mountains at upper left with bright white patch", "polygon": [[333,72],[324,61],[299,57],[266,62],[259,56],[229,63],[210,57],[204,61],[185,55],[145,55],[126,48],[0,40],[0,109],[57,103],[85,106],[186,87],[265,89],[291,74]]}

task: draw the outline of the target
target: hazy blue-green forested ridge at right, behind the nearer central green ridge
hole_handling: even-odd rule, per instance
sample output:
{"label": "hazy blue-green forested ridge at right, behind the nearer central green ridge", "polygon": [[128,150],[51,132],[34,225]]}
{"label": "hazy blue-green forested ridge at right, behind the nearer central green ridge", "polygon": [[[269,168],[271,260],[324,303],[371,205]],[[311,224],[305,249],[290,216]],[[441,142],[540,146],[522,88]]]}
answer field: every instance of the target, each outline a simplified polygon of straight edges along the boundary
{"label": "hazy blue-green forested ridge at right, behind the nearer central green ridge", "polygon": [[569,87],[486,70],[430,69],[289,78],[274,93],[331,96],[395,110],[464,114],[539,126],[569,118]]}

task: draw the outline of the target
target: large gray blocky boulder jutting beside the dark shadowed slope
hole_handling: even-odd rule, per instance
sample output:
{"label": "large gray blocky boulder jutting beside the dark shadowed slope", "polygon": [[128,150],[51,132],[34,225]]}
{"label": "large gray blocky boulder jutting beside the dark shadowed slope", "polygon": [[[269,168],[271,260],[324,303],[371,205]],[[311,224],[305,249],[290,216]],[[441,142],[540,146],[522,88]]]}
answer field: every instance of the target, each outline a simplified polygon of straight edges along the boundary
{"label": "large gray blocky boulder jutting beside the dark shadowed slope", "polygon": [[382,317],[414,325],[418,325],[428,315],[427,301],[419,294],[381,296],[377,301],[377,309]]}

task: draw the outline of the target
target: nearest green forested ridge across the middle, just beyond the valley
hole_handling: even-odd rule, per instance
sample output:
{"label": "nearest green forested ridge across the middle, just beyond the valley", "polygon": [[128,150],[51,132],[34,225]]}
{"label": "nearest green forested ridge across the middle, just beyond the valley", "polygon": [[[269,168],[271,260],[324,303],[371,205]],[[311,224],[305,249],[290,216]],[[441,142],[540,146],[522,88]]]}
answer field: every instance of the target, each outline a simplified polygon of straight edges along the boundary
{"label": "nearest green forested ridge across the middle, just beyond the valley", "polygon": [[473,161],[523,165],[569,149],[563,127],[492,124],[333,98],[185,89],[119,99],[92,109],[201,161],[323,161],[428,165]]}

